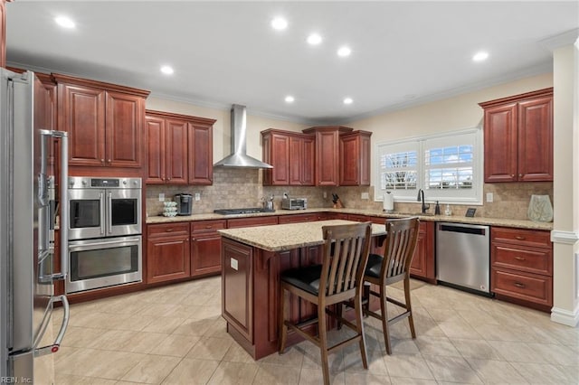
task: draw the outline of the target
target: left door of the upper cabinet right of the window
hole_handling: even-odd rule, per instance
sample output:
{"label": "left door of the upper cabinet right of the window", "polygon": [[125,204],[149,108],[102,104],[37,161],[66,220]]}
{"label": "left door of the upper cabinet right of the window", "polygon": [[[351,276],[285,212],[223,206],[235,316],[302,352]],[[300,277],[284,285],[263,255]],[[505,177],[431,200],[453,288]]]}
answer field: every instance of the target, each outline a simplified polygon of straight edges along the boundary
{"label": "left door of the upper cabinet right of the window", "polygon": [[485,182],[517,180],[517,103],[488,108],[484,119]]}

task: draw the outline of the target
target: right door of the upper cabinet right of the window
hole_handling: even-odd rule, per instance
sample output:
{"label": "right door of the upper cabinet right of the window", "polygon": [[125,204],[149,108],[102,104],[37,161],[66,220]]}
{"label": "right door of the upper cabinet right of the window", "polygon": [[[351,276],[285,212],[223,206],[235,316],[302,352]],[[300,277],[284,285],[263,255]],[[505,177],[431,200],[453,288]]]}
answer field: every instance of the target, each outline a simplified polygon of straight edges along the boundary
{"label": "right door of the upper cabinet right of the window", "polygon": [[518,104],[518,180],[553,180],[553,98]]}

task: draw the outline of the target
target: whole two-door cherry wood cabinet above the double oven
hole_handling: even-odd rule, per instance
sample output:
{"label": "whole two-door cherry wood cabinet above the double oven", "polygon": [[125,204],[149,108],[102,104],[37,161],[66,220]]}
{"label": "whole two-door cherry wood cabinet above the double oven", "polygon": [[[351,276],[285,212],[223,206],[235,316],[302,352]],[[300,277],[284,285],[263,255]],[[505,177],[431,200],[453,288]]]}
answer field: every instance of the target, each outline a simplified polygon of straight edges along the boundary
{"label": "whole two-door cherry wood cabinet above the double oven", "polygon": [[140,168],[148,91],[52,74],[71,166]]}

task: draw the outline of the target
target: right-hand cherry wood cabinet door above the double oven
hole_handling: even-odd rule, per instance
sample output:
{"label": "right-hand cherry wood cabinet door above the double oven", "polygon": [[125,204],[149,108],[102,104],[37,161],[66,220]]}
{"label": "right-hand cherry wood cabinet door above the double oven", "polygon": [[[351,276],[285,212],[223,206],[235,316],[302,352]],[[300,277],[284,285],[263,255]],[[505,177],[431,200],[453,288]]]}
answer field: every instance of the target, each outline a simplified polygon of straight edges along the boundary
{"label": "right-hand cherry wood cabinet door above the double oven", "polygon": [[141,127],[144,116],[143,98],[107,91],[107,165],[141,166]]}

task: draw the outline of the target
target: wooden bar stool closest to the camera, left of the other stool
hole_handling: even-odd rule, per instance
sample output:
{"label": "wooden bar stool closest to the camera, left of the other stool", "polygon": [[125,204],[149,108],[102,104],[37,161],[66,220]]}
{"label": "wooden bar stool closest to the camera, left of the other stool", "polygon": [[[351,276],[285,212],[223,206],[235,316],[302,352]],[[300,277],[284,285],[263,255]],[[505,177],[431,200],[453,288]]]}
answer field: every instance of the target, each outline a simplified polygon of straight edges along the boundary
{"label": "wooden bar stool closest to the camera, left of the other stool", "polygon": [[[324,383],[329,384],[328,353],[350,343],[359,343],[362,363],[365,369],[368,368],[362,322],[362,279],[370,252],[372,224],[365,222],[324,226],[322,231],[324,235],[322,265],[288,270],[280,276],[280,354],[285,350],[288,328],[291,328],[319,347]],[[286,291],[318,305],[318,316],[299,324],[292,324],[286,320],[288,308]],[[356,324],[345,319],[341,319],[340,322],[354,330],[356,335],[333,346],[327,346],[327,313],[337,316],[329,311],[327,306],[340,304],[349,299],[354,299]],[[312,324],[318,324],[318,335],[302,330]]]}

